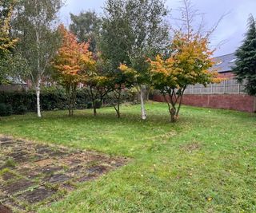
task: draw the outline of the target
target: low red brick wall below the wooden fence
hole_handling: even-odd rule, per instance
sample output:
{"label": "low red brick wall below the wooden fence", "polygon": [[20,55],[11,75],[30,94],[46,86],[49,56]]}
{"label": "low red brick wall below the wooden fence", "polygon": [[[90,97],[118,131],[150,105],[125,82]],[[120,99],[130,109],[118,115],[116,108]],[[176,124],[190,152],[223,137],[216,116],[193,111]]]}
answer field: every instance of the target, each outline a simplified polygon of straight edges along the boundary
{"label": "low red brick wall below the wooden fence", "polygon": [[[161,95],[155,95],[154,101],[164,102]],[[226,108],[242,112],[256,111],[256,97],[247,95],[184,95],[183,105],[207,108]]]}

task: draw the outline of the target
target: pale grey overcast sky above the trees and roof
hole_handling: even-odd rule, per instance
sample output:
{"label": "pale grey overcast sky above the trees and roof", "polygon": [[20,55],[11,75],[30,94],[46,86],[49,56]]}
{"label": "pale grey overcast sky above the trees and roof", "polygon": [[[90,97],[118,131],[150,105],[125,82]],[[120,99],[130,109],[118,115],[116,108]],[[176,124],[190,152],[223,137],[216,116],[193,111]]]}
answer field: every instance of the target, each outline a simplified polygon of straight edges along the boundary
{"label": "pale grey overcast sky above the trees and roof", "polygon": [[[84,10],[95,10],[102,14],[102,7],[105,0],[66,0],[66,6],[62,8],[61,19],[64,24],[70,24],[70,13],[78,14]],[[215,52],[215,56],[233,53],[241,45],[241,41],[246,33],[246,22],[249,14],[256,17],[256,0],[192,0],[194,8],[205,14],[205,22],[208,26],[213,26],[222,16],[227,14],[222,20],[218,29],[211,38],[214,47],[225,41]],[[179,0],[167,0],[166,4],[172,14],[177,17],[178,8],[181,5]]]}

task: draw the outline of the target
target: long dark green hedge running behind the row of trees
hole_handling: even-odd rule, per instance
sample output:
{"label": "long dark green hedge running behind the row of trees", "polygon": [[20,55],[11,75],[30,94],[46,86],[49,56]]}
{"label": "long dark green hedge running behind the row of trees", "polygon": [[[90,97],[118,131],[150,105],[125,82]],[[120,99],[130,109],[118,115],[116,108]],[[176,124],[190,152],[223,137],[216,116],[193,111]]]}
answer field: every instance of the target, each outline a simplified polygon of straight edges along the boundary
{"label": "long dark green hedge running behind the row of trees", "polygon": [[[42,89],[40,101],[42,111],[62,110],[68,108],[67,97],[64,89]],[[112,97],[110,93],[110,96],[103,100],[103,105],[112,105],[114,101],[114,97]],[[134,93],[130,89],[125,89],[122,92],[122,102],[126,101],[134,101]],[[37,99],[33,90],[27,92],[0,92],[0,104],[1,103],[5,105],[5,112],[7,105],[8,108],[11,107],[12,110],[10,111],[12,111],[12,113],[16,115],[24,114],[26,112],[36,112],[37,110]],[[102,102],[97,100],[95,101],[95,105],[96,108],[101,108]],[[2,106],[2,108],[4,107]],[[88,97],[85,89],[78,89],[75,108],[93,108],[92,102],[90,101],[90,98]],[[2,112],[3,109],[0,108],[0,111]]]}

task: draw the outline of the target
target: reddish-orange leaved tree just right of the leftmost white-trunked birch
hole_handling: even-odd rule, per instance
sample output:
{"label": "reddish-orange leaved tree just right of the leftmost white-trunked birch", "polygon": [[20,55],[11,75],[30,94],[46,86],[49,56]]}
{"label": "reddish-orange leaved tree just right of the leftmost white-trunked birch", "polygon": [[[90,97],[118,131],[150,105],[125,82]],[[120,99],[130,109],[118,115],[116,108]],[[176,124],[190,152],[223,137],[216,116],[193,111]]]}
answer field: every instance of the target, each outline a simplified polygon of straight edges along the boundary
{"label": "reddish-orange leaved tree just right of the leftmost white-trunked birch", "polygon": [[58,49],[53,65],[58,81],[66,89],[69,115],[72,116],[78,84],[82,78],[85,78],[81,73],[82,65],[92,60],[92,53],[88,50],[88,43],[78,43],[77,37],[66,30],[63,25],[59,26],[59,32],[62,34],[62,46]]}

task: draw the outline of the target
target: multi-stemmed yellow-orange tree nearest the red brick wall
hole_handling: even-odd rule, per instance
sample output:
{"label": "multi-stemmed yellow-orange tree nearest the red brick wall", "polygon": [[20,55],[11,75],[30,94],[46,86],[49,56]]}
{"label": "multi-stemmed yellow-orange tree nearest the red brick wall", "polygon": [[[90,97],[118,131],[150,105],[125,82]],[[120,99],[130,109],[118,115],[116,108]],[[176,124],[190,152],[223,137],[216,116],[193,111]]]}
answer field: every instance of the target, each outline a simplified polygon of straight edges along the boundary
{"label": "multi-stemmed yellow-orange tree nearest the red brick wall", "polygon": [[[208,37],[199,34],[176,32],[170,45],[170,57],[158,55],[150,60],[151,81],[165,98],[169,107],[170,121],[175,122],[182,105],[182,97],[188,85],[207,85],[220,81],[211,67],[213,51]],[[178,106],[177,106],[178,105]]]}

